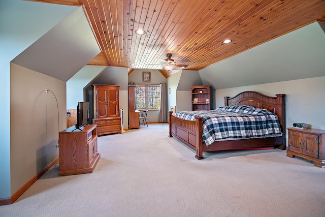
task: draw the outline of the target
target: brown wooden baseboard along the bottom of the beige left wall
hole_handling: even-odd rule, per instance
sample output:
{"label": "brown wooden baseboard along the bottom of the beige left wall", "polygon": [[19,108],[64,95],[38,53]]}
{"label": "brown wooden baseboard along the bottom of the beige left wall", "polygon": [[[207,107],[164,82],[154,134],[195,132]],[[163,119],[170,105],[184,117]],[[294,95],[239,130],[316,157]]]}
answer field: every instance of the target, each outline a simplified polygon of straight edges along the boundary
{"label": "brown wooden baseboard along the bottom of the beige left wall", "polygon": [[42,177],[54,164],[59,162],[59,157],[57,157],[52,163],[50,163],[47,167],[45,167],[41,172],[39,172],[36,176],[30,179],[23,187],[21,187],[15,194],[13,194],[10,198],[0,198],[0,205],[9,205],[14,203],[27,189],[31,187],[39,178]]}

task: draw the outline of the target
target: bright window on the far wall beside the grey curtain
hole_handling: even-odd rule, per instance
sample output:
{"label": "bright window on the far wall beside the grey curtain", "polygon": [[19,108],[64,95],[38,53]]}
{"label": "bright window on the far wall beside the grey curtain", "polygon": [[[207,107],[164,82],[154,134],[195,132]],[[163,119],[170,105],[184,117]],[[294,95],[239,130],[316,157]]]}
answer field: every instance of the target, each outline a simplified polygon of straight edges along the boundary
{"label": "bright window on the far wall beside the grey curtain", "polygon": [[136,109],[160,109],[160,85],[137,85]]}

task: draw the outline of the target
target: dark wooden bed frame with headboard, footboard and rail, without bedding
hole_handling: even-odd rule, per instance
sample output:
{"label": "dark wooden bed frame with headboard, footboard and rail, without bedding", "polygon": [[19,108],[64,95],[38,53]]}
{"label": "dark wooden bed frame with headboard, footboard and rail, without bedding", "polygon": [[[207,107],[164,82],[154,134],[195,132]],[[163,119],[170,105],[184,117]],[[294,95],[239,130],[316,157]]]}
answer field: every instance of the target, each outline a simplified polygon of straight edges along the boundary
{"label": "dark wooden bed frame with headboard, footboard and rail, without bedding", "polygon": [[216,140],[209,144],[204,142],[203,117],[196,120],[185,120],[173,115],[169,111],[169,137],[175,137],[188,147],[196,151],[196,158],[203,159],[203,151],[248,149],[256,147],[275,147],[285,149],[285,95],[277,94],[269,97],[255,91],[245,91],[233,98],[224,97],[225,106],[252,106],[258,109],[267,109],[278,116],[282,134],[267,138],[244,138]]}

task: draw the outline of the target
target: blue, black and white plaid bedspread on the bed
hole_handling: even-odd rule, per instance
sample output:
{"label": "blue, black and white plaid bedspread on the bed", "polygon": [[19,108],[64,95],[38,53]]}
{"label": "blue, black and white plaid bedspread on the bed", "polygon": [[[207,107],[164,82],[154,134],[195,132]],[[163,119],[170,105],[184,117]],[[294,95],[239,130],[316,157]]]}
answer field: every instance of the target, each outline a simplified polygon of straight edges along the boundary
{"label": "blue, black and white plaid bedspread on the bed", "polygon": [[281,136],[279,118],[266,109],[252,106],[222,106],[207,111],[178,111],[175,116],[185,120],[203,117],[203,141],[209,146],[228,138]]}

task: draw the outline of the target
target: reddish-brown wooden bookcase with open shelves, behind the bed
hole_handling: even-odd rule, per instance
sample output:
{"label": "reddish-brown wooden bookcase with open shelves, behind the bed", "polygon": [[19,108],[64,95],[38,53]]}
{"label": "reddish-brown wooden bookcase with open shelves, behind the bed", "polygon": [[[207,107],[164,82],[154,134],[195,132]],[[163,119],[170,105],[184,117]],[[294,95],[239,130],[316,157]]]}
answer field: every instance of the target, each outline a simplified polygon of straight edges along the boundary
{"label": "reddish-brown wooden bookcase with open shelves, behind the bed", "polygon": [[210,86],[191,86],[192,111],[210,110]]}

